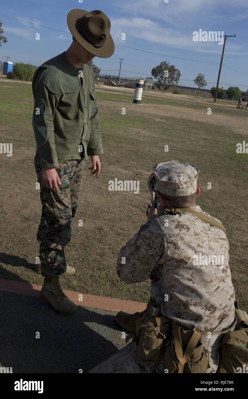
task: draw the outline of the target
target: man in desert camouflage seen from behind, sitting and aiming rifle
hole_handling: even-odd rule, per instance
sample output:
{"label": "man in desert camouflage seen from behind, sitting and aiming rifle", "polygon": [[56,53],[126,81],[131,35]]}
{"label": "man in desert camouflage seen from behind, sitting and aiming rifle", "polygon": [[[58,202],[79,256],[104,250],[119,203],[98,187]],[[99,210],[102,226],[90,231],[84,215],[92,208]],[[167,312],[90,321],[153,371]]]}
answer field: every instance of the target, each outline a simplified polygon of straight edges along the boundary
{"label": "man in desert camouflage seen from behind, sitting and aiming rifle", "polygon": [[225,228],[196,205],[198,172],[171,161],[149,176],[152,202],[156,192],[161,206],[149,207],[147,222],[120,250],[117,274],[127,284],[150,279],[151,299],[141,313],[118,312],[116,322],[132,333],[133,344],[90,373],[177,373],[187,358],[184,372],[216,373],[221,339],[236,325],[234,288]]}

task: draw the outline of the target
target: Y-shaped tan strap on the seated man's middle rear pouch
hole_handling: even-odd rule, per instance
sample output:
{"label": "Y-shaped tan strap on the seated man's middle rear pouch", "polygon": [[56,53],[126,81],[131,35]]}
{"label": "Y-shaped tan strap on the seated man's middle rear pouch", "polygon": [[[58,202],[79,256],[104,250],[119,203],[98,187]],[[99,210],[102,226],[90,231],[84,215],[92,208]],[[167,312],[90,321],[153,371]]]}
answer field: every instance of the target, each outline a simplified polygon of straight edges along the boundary
{"label": "Y-shaped tan strap on the seated man's middle rear pouch", "polygon": [[181,339],[181,334],[180,330],[181,327],[177,327],[173,330],[173,335],[174,335],[174,346],[175,346],[175,353],[176,357],[178,358],[179,361],[179,366],[178,366],[178,373],[183,373],[184,365],[188,361],[190,361],[191,356],[196,349],[196,345],[198,341],[200,340],[201,334],[198,331],[194,331],[192,334],[192,337],[190,338],[187,348],[183,354],[182,352],[182,339]]}

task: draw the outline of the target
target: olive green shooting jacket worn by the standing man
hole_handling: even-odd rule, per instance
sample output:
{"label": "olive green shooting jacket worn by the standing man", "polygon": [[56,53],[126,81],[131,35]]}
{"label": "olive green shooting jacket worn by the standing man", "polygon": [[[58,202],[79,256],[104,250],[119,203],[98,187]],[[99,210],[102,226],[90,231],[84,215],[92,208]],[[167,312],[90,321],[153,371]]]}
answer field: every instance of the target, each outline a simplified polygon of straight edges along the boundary
{"label": "olive green shooting jacket worn by the standing man", "polygon": [[87,64],[74,67],[64,52],[37,68],[32,87],[33,130],[43,167],[103,154],[95,78]]}

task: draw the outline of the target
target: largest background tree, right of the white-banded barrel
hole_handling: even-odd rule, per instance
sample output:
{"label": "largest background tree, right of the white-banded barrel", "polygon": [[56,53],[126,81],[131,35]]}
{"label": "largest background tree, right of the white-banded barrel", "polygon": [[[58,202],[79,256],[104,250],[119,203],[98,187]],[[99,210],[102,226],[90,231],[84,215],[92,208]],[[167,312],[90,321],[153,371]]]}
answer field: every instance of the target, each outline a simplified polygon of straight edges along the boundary
{"label": "largest background tree, right of the white-banded barrel", "polygon": [[181,76],[179,69],[176,69],[174,65],[170,65],[169,61],[162,61],[151,70],[151,74],[157,80],[155,85],[159,90],[163,88],[163,92],[171,86],[176,86]]}

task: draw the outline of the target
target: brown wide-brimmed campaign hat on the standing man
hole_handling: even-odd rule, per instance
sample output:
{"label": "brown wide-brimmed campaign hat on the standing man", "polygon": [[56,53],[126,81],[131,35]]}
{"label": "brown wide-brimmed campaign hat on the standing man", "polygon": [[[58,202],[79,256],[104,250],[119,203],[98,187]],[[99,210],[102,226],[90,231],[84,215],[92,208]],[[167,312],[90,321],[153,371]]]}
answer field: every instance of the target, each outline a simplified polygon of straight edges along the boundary
{"label": "brown wide-brimmed campaign hat on the standing man", "polygon": [[76,41],[90,53],[101,58],[111,57],[114,53],[111,23],[104,12],[74,8],[68,13],[67,23]]}

